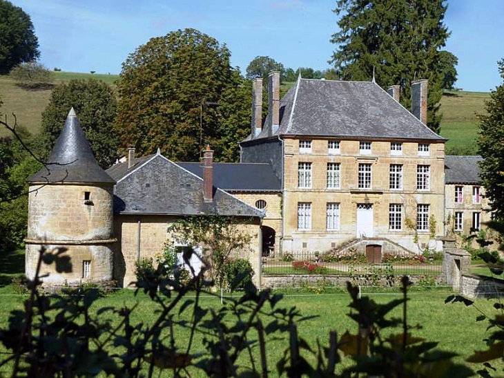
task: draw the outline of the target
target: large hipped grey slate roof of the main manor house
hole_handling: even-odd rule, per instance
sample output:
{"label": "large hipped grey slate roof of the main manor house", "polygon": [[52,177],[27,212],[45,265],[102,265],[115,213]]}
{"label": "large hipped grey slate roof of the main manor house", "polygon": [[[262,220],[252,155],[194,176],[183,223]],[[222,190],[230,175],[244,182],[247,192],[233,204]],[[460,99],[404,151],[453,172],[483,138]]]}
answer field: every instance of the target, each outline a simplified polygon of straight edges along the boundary
{"label": "large hipped grey slate roof of the main manor house", "polygon": [[298,79],[280,100],[280,127],[266,117],[257,138],[307,135],[339,138],[440,140],[374,82]]}

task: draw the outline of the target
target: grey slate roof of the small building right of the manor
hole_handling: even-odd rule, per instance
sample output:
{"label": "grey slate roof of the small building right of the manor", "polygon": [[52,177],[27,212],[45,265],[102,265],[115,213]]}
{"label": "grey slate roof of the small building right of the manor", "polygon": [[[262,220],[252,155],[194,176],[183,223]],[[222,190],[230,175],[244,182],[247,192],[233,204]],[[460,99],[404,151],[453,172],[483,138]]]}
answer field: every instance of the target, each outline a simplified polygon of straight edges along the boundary
{"label": "grey slate roof of the small building right of the manor", "polygon": [[445,184],[481,184],[481,156],[445,155]]}

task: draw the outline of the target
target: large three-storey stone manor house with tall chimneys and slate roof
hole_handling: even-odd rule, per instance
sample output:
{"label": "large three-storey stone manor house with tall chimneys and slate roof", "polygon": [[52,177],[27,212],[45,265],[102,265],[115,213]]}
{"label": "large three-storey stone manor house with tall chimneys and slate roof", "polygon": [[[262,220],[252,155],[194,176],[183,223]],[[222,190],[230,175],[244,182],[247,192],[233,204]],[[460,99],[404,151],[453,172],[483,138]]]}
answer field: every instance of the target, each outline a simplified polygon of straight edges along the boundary
{"label": "large three-storey stone manor house with tall chimneys and slate roof", "polygon": [[426,80],[413,84],[415,115],[396,87],[387,93],[374,82],[300,77],[280,100],[280,73],[271,73],[268,88],[262,122],[262,80],[253,82],[241,162],[271,164],[281,180],[282,252],[324,252],[356,238],[418,252],[443,235],[446,140],[425,125]]}

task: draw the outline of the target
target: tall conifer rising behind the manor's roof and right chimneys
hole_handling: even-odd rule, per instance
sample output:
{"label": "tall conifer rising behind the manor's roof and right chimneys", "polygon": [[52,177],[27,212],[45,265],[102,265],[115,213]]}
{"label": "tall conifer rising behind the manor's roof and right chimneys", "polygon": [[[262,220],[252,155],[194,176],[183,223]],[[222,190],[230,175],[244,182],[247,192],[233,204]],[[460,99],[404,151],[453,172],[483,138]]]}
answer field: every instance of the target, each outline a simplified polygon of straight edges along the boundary
{"label": "tall conifer rising behind the manor's roof and right chimneys", "polygon": [[374,72],[383,88],[400,84],[406,108],[411,108],[411,82],[428,79],[427,125],[439,132],[446,9],[444,0],[338,0],[340,31],[331,42],[339,47],[329,62],[342,79],[371,80]]}

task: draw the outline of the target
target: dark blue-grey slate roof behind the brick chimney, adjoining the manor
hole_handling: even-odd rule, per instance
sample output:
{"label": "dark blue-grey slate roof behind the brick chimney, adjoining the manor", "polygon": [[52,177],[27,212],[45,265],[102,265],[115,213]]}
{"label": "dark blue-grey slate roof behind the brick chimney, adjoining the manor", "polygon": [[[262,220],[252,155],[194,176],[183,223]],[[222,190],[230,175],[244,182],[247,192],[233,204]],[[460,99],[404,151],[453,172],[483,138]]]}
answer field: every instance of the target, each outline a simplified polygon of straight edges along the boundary
{"label": "dark blue-grey slate roof behind the brick chimney, adjoining the manor", "polygon": [[[203,178],[200,162],[177,162]],[[213,184],[227,191],[281,191],[282,182],[266,163],[213,163]]]}

